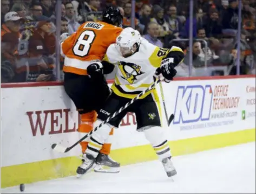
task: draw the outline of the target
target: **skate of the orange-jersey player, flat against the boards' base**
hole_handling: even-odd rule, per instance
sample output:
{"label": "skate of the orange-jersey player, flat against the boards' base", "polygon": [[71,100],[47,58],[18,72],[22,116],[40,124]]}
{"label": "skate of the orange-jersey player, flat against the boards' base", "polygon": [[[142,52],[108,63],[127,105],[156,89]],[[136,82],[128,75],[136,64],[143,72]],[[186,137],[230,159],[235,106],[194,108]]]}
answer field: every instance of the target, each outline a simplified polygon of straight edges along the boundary
{"label": "skate of the orange-jersey player, flat against the boards' base", "polygon": [[112,160],[108,155],[100,153],[96,158],[95,172],[118,173],[120,163]]}

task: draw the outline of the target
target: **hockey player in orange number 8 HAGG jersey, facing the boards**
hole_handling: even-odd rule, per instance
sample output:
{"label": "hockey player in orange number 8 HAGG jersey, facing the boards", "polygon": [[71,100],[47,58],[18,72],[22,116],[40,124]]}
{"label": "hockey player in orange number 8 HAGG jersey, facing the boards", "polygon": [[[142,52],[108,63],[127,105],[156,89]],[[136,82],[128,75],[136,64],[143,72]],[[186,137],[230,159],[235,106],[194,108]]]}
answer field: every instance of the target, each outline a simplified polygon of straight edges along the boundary
{"label": "hockey player in orange number 8 HAGG jersey, facing the boards", "polygon": [[[104,65],[101,61],[108,46],[115,43],[122,31],[122,15],[117,8],[110,7],[103,13],[102,22],[86,22],[61,43],[61,55],[64,57],[64,88],[73,100],[81,117],[78,132],[81,136],[93,130],[97,110],[106,101],[110,88],[102,75],[113,71],[114,66]],[[90,76],[88,75],[90,74]],[[110,138],[97,157],[96,172],[119,172],[120,163],[109,157]],[[94,149],[88,144],[89,138],[81,142],[82,153]],[[84,162],[86,158],[83,157]]]}

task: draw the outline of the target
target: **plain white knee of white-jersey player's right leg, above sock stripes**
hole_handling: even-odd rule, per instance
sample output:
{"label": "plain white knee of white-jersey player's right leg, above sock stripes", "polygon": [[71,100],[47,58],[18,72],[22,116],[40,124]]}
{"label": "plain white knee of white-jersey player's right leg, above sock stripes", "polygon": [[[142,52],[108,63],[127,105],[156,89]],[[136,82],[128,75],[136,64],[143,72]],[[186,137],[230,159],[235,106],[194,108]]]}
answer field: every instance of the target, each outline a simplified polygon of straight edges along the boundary
{"label": "plain white knee of white-jersey player's right leg, above sock stripes", "polygon": [[163,128],[159,126],[150,126],[150,128],[143,130],[143,132],[152,145],[157,145],[166,139],[163,134]]}

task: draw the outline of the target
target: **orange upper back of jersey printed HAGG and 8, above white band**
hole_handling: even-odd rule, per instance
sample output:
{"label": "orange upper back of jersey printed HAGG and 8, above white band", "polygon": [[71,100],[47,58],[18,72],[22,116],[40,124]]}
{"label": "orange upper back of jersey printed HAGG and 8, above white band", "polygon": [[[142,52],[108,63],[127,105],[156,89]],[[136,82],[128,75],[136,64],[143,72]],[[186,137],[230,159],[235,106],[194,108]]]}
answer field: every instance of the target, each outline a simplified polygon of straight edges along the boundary
{"label": "orange upper back of jersey printed HAGG and 8, above white band", "polygon": [[122,30],[104,22],[86,22],[63,41],[62,52],[65,57],[82,61],[102,60]]}

